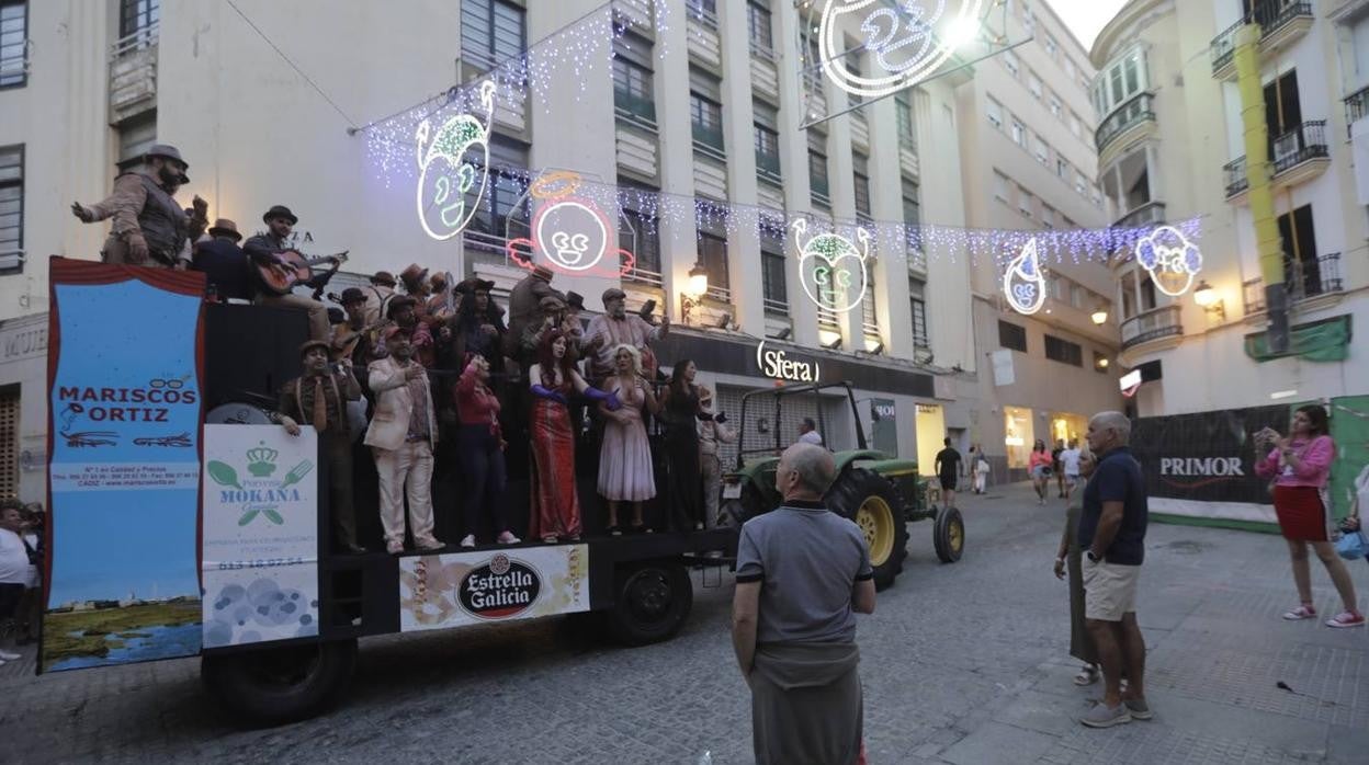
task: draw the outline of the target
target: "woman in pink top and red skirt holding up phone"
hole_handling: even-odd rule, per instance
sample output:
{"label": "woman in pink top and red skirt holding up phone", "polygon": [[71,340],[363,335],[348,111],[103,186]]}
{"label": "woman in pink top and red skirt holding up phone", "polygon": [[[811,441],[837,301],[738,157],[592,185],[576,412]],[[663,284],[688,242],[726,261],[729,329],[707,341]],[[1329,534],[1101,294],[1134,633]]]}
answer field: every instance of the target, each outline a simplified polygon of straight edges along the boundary
{"label": "woman in pink top and red skirt holding up phone", "polygon": [[1292,558],[1292,580],[1298,586],[1298,608],[1283,614],[1290,621],[1316,619],[1317,609],[1312,602],[1312,568],[1307,564],[1307,545],[1321,558],[1335,583],[1346,610],[1327,620],[1327,627],[1362,627],[1364,614],[1355,608],[1355,586],[1350,580],[1346,564],[1336,556],[1335,545],[1327,534],[1327,505],[1321,491],[1331,475],[1331,463],[1336,458],[1336,445],[1327,434],[1327,411],[1320,405],[1307,405],[1294,412],[1292,432],[1288,438],[1273,428],[1255,434],[1255,448],[1261,443],[1272,446],[1269,454],[1255,464],[1255,474],[1273,478],[1275,513],[1279,528],[1288,541],[1288,554]]}

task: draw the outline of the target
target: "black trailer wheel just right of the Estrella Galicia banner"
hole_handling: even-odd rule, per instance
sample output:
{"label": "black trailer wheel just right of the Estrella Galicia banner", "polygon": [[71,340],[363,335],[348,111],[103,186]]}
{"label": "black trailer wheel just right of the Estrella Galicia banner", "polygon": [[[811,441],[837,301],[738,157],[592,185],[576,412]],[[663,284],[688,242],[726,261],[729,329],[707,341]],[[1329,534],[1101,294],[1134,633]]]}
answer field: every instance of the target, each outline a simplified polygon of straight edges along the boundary
{"label": "black trailer wheel just right of the Estrella Galicia banner", "polygon": [[645,646],[680,631],[694,608],[694,583],[679,561],[645,561],[617,569],[608,630],[617,642]]}

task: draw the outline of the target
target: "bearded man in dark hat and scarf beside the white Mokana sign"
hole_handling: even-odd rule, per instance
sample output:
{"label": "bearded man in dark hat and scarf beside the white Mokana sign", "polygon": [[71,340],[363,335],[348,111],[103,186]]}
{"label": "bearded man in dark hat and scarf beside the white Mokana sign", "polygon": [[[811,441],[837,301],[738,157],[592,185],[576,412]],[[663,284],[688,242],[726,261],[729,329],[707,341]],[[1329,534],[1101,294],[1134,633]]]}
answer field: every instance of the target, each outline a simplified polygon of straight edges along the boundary
{"label": "bearded man in dark hat and scarf beside the white Mokana sign", "polygon": [[277,411],[290,435],[300,435],[300,424],[314,426],[319,434],[319,458],[329,480],[329,516],[333,520],[333,546],[345,553],[364,553],[356,543],[356,509],[352,502],[352,426],[348,401],[361,400],[361,386],[352,374],[352,361],[329,364],[329,343],[311,339],[300,346],[304,375],[281,389]]}

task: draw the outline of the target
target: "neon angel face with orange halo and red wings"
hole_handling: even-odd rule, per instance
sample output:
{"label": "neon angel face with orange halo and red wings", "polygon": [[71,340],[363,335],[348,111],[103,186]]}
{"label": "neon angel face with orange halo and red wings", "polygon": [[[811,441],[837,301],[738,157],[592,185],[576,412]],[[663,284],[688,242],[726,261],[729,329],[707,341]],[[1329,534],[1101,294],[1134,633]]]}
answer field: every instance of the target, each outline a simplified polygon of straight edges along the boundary
{"label": "neon angel face with orange halo and red wings", "polygon": [[[531,238],[509,239],[505,252],[515,264],[534,270],[623,276],[637,264],[626,249],[612,248],[613,227],[594,203],[571,196],[579,189],[574,172],[546,172],[528,186],[542,205],[533,216]],[[606,259],[609,255],[613,259]]]}

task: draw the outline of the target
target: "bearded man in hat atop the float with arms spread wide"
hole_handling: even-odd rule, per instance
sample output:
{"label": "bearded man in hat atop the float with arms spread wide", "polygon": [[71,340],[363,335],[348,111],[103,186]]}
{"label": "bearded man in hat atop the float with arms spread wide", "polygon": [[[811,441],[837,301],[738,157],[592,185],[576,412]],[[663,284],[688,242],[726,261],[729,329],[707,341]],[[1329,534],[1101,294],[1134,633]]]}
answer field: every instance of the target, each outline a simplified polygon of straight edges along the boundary
{"label": "bearded man in hat atop the float with arms spread wide", "polygon": [[208,224],[208,203],[194,197],[196,215],[188,216],[172,198],[190,182],[190,166],[168,144],[157,144],[142,155],[142,164],[114,179],[114,192],[104,200],[84,205],[71,203],[71,213],[82,223],[114,218],[100,259],[104,263],[185,268],[190,263],[190,242]]}

